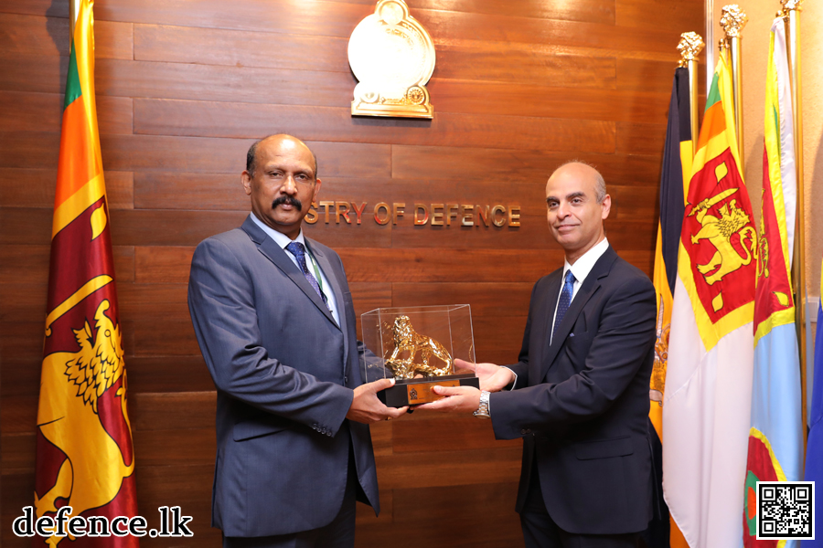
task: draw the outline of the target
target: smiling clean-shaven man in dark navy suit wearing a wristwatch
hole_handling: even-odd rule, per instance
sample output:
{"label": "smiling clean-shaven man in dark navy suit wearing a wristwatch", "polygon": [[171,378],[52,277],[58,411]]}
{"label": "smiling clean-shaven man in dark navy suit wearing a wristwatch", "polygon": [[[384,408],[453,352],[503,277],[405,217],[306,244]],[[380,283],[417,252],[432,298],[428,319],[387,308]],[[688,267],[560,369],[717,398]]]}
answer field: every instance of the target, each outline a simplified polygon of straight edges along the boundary
{"label": "smiling clean-shaven man in dark navy suit wearing a wristwatch", "polygon": [[652,515],[655,290],[609,247],[611,197],[593,167],[558,168],[546,203],[565,265],[534,286],[518,364],[476,364],[482,392],[437,387],[448,397],[422,407],[477,409],[497,438],[523,438],[517,511],[527,546],[635,546]]}

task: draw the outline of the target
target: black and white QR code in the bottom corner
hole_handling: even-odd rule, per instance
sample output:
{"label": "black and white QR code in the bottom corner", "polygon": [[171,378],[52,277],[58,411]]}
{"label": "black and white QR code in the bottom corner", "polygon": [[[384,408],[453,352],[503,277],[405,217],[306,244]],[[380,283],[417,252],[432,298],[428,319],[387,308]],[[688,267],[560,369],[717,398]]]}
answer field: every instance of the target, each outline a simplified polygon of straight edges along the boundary
{"label": "black and white QR code in the bottom corner", "polygon": [[757,539],[815,538],[814,481],[757,482]]}

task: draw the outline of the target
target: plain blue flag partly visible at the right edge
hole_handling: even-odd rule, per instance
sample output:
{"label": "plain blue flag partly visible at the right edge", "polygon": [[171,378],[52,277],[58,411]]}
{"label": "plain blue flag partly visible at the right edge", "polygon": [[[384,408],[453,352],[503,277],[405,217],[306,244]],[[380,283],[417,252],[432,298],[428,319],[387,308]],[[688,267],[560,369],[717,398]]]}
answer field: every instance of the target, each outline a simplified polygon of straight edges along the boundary
{"label": "plain blue flag partly visible at the right edge", "polygon": [[[820,280],[820,304],[818,304],[818,332],[815,336],[814,387],[812,388],[811,411],[808,420],[808,439],[806,442],[806,472],[803,479],[815,482],[815,500],[812,502],[818,516],[823,515],[817,509],[823,501],[823,279]],[[819,522],[818,522],[819,523]],[[823,534],[817,532],[814,541],[803,541],[802,548],[823,548]]]}

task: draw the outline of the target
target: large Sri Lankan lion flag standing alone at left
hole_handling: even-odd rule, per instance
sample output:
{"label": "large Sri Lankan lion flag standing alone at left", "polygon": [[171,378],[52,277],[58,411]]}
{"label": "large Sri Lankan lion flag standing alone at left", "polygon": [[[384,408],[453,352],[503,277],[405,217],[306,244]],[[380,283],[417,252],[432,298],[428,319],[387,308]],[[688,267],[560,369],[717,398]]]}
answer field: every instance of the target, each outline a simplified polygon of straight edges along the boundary
{"label": "large Sri Lankan lion flag standing alone at left", "polygon": [[[37,409],[36,517],[134,516],[134,449],[109,210],[94,104],[92,0],[69,52]],[[65,511],[64,511],[65,512]],[[133,536],[34,537],[36,546],[137,546]]]}

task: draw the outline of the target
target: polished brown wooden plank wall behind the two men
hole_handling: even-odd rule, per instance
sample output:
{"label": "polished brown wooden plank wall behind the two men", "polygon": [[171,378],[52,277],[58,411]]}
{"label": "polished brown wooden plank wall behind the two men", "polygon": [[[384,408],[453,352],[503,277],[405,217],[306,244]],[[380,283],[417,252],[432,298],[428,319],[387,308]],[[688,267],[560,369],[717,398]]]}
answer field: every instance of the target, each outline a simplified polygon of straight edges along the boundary
{"label": "polished brown wooden plank wall behind the two men", "polygon": [[[468,303],[478,360],[517,360],[532,286],[562,264],[543,195],[560,163],[601,170],[613,198],[609,240],[651,272],[675,46],[681,32],[700,30],[700,2],[408,0],[437,51],[433,121],[350,116],[347,40],[374,4],[95,6],[138,504],[150,526],[161,505],[195,518],[194,539],[144,538],[145,547],[220,545],[209,526],[216,394],[187,280],[198,242],[248,215],[240,172],[254,139],[293,132],[319,160],[320,200],[366,203],[360,225],[342,222],[337,206],[326,223],[324,205],[305,227],[339,252],[358,318]],[[10,525],[32,502],[68,55],[68,3],[0,6],[0,543],[12,547],[29,545]],[[405,204],[396,225],[375,223],[379,202]],[[514,205],[520,227],[414,227],[417,203]],[[522,542],[518,440],[497,441],[470,416],[423,412],[375,425],[372,438],[383,511],[358,508],[358,546]]]}

